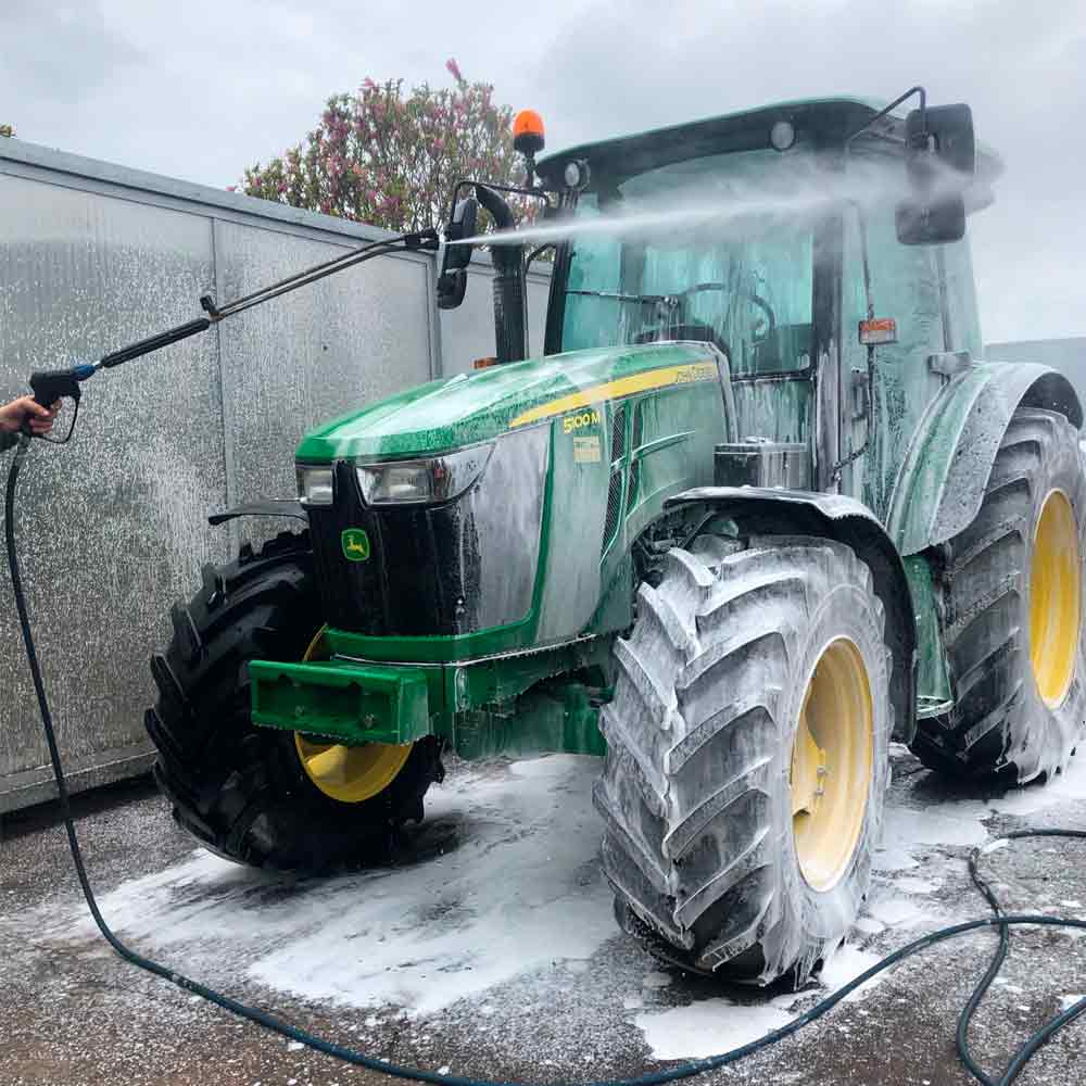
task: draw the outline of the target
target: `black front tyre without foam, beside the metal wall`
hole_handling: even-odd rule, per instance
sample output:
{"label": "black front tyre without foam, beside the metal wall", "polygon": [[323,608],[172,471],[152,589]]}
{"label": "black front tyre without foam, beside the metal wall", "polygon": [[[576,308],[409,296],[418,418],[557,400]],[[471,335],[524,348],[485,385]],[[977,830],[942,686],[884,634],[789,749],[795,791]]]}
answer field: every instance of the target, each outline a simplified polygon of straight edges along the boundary
{"label": "black front tyre without foam, beside the metal wall", "polygon": [[202,590],[172,617],[173,640],[151,660],[159,699],[146,722],[177,822],[256,867],[325,873],[387,859],[396,828],[422,818],[422,796],[441,779],[438,742],[420,740],[403,758],[392,757],[399,748],[379,748],[380,758],[337,748],[332,759],[346,757],[326,781],[312,766],[328,747],[250,719],[248,661],[301,659],[323,624],[307,535],[283,532],[205,567]]}

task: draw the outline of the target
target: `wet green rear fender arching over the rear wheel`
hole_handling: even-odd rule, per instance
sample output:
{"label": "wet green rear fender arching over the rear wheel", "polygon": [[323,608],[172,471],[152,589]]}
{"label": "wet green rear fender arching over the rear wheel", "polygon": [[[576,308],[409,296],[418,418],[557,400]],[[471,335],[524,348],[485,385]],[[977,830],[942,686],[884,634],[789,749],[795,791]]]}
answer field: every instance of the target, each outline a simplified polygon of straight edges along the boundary
{"label": "wet green rear fender arching over the rear wheel", "polygon": [[945,543],[973,521],[1020,406],[1059,412],[1076,428],[1083,424],[1071,382],[1032,363],[970,366],[932,401],[909,443],[886,517],[901,555]]}

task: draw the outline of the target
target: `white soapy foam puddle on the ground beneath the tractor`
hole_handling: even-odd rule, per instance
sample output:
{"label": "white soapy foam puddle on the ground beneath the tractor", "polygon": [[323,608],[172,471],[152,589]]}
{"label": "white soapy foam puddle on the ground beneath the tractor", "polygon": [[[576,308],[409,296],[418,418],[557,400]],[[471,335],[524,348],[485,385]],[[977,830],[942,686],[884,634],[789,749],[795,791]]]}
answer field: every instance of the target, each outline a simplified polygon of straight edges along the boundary
{"label": "white soapy foam puddle on the ground beneath the tractor", "polygon": [[[583,1013],[624,1023],[653,1059],[707,1056],[784,1025],[923,932],[984,914],[978,896],[961,893],[960,872],[988,838],[986,822],[1053,807],[1065,822],[1069,804],[1086,810],[1086,759],[1045,787],[985,798],[937,782],[904,747],[892,754],[895,784],[869,899],[800,993],[723,988],[662,969],[617,930],[596,862],[591,788],[599,762],[588,757],[456,767],[428,799],[413,855],[393,869],[287,880],[195,850],[100,904],[123,938],[184,963],[188,975],[231,992],[248,980],[336,1006],[356,1022],[350,1032],[362,1031],[359,1041],[387,1023],[427,1037],[469,1019],[497,1044],[523,1028],[526,1000],[572,1000],[581,1013],[581,987],[584,1007],[603,1005]],[[957,889],[940,895],[948,879]],[[22,922],[36,923],[42,942],[97,937],[76,909]],[[892,974],[848,1001],[867,1000]]]}

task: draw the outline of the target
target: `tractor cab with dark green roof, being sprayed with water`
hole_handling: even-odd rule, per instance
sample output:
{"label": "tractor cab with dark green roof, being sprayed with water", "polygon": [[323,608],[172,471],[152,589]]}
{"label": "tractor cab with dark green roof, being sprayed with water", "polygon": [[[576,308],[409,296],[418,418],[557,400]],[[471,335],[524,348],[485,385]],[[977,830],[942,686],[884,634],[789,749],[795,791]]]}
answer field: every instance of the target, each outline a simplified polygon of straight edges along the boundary
{"label": "tractor cab with dark green roof, being sprayed with water", "polygon": [[[798,445],[805,485],[885,510],[894,438],[940,387],[929,358],[980,354],[965,216],[990,203],[1000,165],[975,151],[967,106],[787,102],[538,168],[572,219],[547,353],[711,342],[744,441]],[[879,433],[876,401],[896,415]]]}

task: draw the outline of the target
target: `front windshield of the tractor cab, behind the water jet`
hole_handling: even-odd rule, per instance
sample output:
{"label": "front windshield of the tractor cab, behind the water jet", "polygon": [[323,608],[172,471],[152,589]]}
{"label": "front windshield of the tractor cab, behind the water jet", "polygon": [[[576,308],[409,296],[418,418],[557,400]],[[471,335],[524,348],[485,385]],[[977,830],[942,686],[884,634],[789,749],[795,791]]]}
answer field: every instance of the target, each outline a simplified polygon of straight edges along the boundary
{"label": "front windshield of the tractor cab, behind the water jet", "polygon": [[795,160],[711,155],[582,195],[563,350],[695,339],[736,376],[808,368],[817,201]]}

